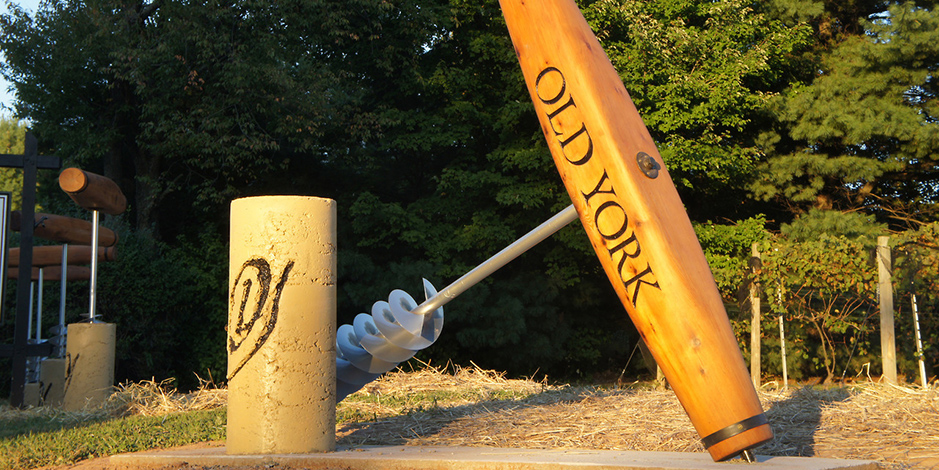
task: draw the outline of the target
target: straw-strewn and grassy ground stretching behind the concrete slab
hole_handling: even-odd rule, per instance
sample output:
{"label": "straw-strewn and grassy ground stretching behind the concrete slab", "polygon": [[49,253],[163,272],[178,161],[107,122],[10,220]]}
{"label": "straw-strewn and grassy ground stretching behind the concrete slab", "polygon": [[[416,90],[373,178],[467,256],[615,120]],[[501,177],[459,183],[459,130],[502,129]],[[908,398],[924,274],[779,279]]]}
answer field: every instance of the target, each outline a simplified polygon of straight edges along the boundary
{"label": "straw-strewn and grassy ground stretching behind the concrete slab", "polygon": [[[19,422],[32,428],[32,436],[44,436],[30,441],[31,445],[48,449],[42,459],[26,459],[20,453],[19,463],[0,460],[0,469],[61,465],[96,455],[187,442],[215,440],[210,445],[220,445],[225,395],[224,389],[213,388],[178,394],[165,384],[148,383],[125,386],[104,409],[84,414],[4,408],[0,410],[0,429]],[[758,454],[868,459],[891,469],[939,468],[939,390],[935,385],[923,390],[867,382],[780,390],[770,384],[760,391],[760,398],[776,439],[759,448]],[[352,447],[703,451],[670,390],[656,389],[649,383],[552,385],[508,379],[476,367],[427,367],[387,374],[340,403],[337,419],[339,445]],[[124,423],[111,424],[120,433],[94,428],[115,422]],[[75,428],[94,431],[77,438],[66,434]],[[102,435],[110,437],[102,439]],[[22,452],[22,441],[29,436],[22,430],[14,437],[0,434],[0,458]],[[78,457],[63,450],[89,440],[104,440],[110,447]],[[53,441],[66,444],[56,447]],[[81,468],[105,467],[103,459]]]}

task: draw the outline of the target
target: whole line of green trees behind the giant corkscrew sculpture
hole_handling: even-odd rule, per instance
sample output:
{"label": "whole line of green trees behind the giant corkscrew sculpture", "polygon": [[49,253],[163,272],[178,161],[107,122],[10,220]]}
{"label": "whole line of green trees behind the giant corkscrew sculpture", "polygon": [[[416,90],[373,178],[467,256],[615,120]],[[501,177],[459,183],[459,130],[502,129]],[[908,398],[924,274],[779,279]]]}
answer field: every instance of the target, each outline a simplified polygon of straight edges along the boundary
{"label": "whole line of green trees behind the giant corkscrew sculpture", "polygon": [[[730,233],[937,221],[935,3],[579,2],[732,313]],[[101,306],[127,378],[222,375],[232,198],[337,200],[340,322],[421,277],[446,285],[569,204],[496,1],[49,0],[0,29],[14,120],[131,202],[106,221],[128,256]],[[54,176],[40,203],[67,214]],[[638,340],[576,226],[447,312],[424,360],[589,376]]]}

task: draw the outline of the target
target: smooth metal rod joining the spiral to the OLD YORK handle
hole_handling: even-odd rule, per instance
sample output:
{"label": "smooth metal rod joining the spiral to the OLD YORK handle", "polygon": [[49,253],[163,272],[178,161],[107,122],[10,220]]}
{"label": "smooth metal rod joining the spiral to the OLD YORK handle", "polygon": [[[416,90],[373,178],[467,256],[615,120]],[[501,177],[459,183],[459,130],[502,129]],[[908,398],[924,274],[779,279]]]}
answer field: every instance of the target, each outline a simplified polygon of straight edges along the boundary
{"label": "smooth metal rod joining the spiral to the OLD YORK handle", "polygon": [[561,212],[555,214],[554,217],[551,217],[543,224],[535,227],[534,230],[505,247],[502,251],[496,253],[493,257],[473,268],[472,271],[464,274],[452,284],[438,292],[437,295],[425,300],[412,310],[411,313],[415,315],[427,315],[437,310],[576,219],[577,210],[575,210],[574,205],[571,204]]}

